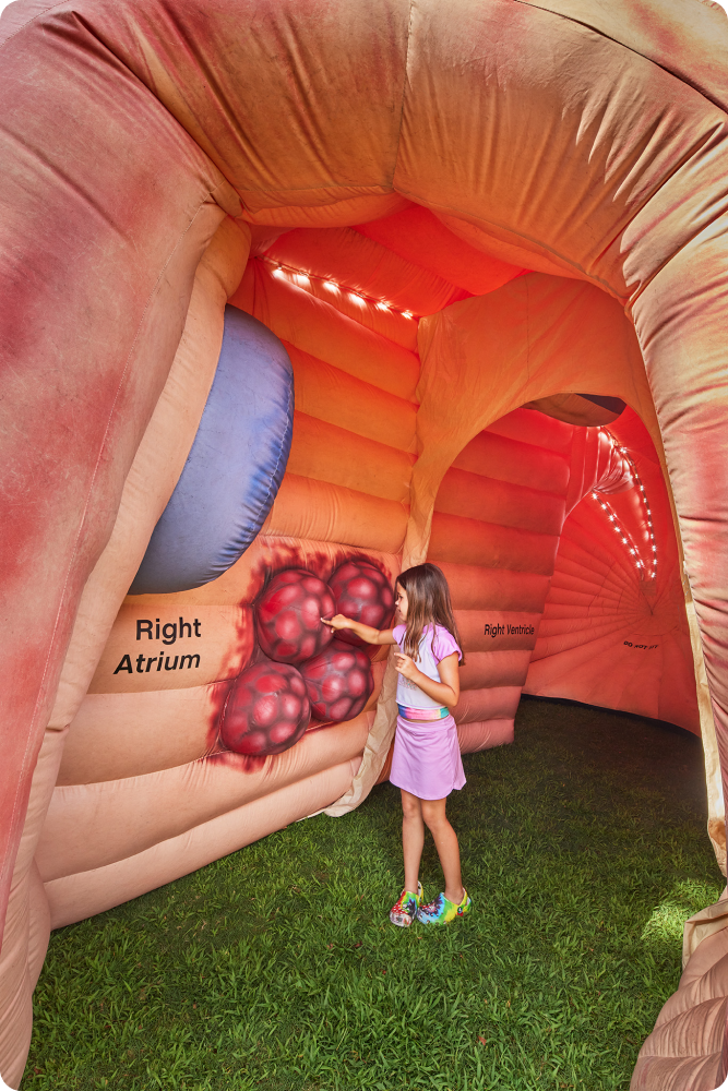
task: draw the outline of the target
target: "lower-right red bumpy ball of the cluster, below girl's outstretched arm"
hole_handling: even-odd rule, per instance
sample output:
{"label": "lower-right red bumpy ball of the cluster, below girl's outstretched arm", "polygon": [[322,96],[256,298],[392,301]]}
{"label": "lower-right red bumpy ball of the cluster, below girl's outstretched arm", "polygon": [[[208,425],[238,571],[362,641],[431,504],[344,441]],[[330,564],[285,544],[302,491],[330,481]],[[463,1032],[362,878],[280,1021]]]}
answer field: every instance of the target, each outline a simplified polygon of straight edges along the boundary
{"label": "lower-right red bumpy ball of the cluster, below girl's outstretched arm", "polygon": [[353,720],[374,688],[369,657],[339,640],[303,663],[301,675],[318,720]]}

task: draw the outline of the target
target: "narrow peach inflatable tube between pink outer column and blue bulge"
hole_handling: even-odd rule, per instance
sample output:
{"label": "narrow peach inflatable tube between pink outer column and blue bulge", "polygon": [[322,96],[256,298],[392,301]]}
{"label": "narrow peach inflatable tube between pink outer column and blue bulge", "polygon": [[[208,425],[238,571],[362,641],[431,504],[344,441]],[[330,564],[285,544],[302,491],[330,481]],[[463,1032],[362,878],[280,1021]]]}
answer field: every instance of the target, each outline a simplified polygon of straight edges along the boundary
{"label": "narrow peach inflatable tube between pink outer column and blue bulge", "polygon": [[88,688],[119,606],[184,465],[215,374],[225,303],[240,280],[248,247],[244,225],[241,231],[226,219],[200,261],[169,376],[127,477],[110,539],[81,595],[33,779],[23,852],[13,872],[4,933],[11,942],[5,946],[3,937],[0,952],[0,1072],[11,1087],[20,1081],[29,1041],[37,976],[32,968],[38,963],[39,969],[50,933],[48,899],[33,861],[56,786],[65,729]]}

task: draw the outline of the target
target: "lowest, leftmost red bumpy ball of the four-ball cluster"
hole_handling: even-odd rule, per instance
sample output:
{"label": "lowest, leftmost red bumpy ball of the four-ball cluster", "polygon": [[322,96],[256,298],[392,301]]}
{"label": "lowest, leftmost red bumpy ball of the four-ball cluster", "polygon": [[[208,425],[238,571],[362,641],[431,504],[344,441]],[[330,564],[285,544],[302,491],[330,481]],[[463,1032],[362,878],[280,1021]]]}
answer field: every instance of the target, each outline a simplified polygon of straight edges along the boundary
{"label": "lowest, leftmost red bumpy ball of the four-ball cluster", "polygon": [[310,718],[306,684],[296,668],[263,660],[236,679],[220,738],[236,754],[281,754],[298,742]]}

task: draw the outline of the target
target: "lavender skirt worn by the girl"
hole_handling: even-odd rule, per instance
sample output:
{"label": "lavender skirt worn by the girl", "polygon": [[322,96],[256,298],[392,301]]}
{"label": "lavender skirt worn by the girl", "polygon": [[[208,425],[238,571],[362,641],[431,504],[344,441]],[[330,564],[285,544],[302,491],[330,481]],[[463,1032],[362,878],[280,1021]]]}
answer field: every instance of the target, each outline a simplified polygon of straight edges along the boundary
{"label": "lavender skirt worn by the girl", "polygon": [[433,723],[397,716],[390,783],[420,800],[442,800],[463,787],[465,772],[452,716]]}

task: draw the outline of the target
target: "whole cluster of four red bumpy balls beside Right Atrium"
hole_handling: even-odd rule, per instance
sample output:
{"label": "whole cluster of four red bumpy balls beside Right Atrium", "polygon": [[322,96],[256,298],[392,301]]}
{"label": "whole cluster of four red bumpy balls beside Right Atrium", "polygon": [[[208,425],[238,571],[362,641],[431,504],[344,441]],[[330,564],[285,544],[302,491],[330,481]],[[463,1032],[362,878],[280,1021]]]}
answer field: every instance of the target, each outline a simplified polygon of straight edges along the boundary
{"label": "whole cluster of four red bumpy balls beside Right Atrium", "polygon": [[311,714],[350,720],[363,709],[374,682],[363,642],[333,633],[321,619],[344,613],[374,628],[391,621],[394,597],[371,561],[345,561],[325,584],[306,568],[286,568],[255,606],[260,651],[266,657],[236,679],[222,718],[220,738],[237,754],[281,754],[298,742]]}

